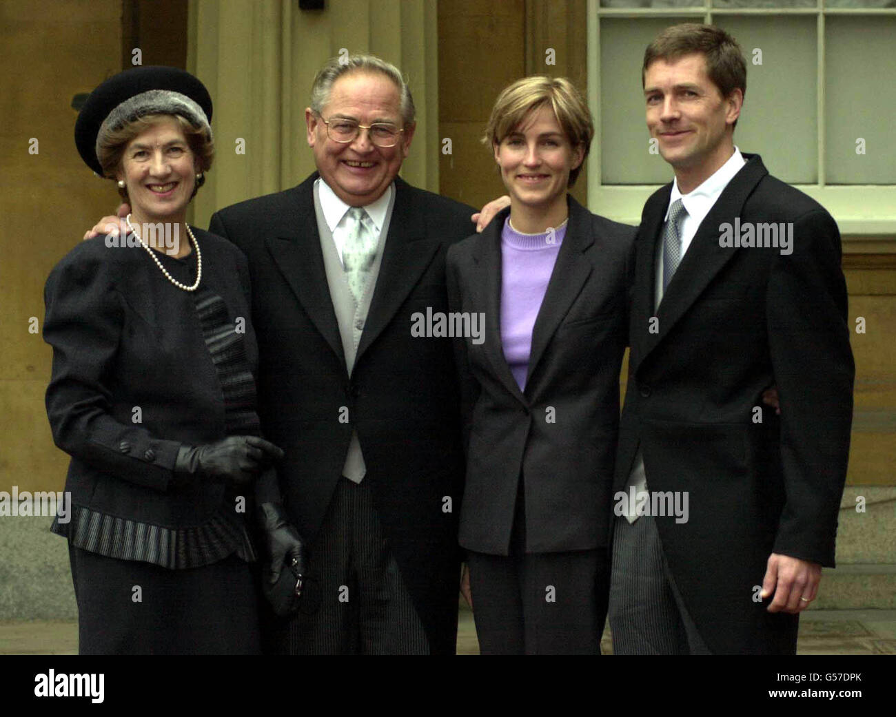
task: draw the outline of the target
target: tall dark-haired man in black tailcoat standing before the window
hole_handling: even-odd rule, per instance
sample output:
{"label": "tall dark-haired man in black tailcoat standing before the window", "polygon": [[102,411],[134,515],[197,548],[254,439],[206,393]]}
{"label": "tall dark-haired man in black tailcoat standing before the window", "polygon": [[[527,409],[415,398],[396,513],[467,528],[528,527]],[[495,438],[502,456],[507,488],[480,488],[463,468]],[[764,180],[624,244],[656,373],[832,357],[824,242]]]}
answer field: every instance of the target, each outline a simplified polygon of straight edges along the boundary
{"label": "tall dark-haired man in black tailcoat standing before the window", "polygon": [[[635,239],[616,653],[795,653],[834,563],[855,373],[840,234],[734,146],[745,76],[709,25],[668,28],[644,56],[647,124],[675,181]],[[762,407],[772,385],[780,416]],[[630,491],[686,496],[686,521],[638,516]]]}

